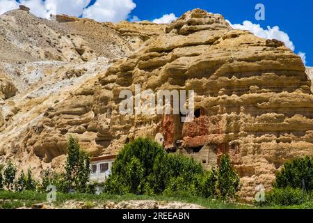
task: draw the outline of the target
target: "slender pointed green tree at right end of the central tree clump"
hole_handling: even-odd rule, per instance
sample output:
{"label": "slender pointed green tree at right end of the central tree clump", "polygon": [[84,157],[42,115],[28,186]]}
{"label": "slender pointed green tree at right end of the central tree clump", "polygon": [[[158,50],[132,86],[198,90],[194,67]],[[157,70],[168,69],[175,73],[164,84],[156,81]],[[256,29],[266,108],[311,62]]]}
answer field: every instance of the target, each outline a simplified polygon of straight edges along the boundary
{"label": "slender pointed green tree at right end of the central tree clump", "polygon": [[220,157],[220,165],[216,173],[216,193],[221,199],[234,199],[241,189],[240,177],[232,169],[230,155]]}

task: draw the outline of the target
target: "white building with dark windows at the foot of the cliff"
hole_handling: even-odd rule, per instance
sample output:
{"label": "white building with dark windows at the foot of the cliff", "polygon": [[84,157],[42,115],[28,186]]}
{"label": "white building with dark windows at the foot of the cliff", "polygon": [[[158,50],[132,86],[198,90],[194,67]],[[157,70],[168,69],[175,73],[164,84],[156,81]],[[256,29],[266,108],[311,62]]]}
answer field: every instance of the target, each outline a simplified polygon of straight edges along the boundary
{"label": "white building with dark windows at the foot of the cliff", "polygon": [[112,164],[116,155],[106,155],[91,158],[90,181],[102,183],[111,174]]}

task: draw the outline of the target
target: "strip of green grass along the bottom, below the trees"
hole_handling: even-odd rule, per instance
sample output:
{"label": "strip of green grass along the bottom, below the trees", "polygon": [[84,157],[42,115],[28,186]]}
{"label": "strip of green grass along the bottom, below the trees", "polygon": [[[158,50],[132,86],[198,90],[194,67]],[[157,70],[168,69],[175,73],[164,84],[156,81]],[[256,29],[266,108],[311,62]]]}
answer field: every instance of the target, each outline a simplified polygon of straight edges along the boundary
{"label": "strip of green grass along the bottom, below the trees", "polygon": [[[0,208],[14,209],[19,207],[31,207],[37,203],[46,203],[47,194],[31,191],[23,192],[8,192],[0,191]],[[105,203],[106,201],[113,201],[118,203],[120,201],[130,201],[130,200],[154,200],[154,201],[179,201],[183,203],[194,203],[198,204],[204,208],[209,209],[312,209],[313,202],[303,203],[297,206],[263,206],[256,207],[248,204],[232,203],[219,200],[204,199],[201,197],[185,197],[179,195],[173,196],[145,196],[145,195],[135,195],[135,194],[125,194],[125,195],[113,195],[113,194],[56,194],[56,206],[61,206],[65,201],[83,201],[86,206],[92,208],[93,203]]]}

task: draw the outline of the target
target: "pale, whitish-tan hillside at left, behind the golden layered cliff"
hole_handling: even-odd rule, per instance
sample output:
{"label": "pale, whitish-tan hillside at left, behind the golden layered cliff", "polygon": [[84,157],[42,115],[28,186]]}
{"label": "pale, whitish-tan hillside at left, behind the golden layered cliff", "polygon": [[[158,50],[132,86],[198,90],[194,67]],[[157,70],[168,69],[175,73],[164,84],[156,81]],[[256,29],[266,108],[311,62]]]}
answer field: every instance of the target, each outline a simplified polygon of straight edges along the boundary
{"label": "pale, whitish-tan hillside at left, behind the golden layered cliff", "polygon": [[24,169],[32,167],[37,176],[51,164],[20,150],[29,128],[81,84],[93,82],[165,28],[150,22],[99,23],[67,15],[44,20],[25,10],[1,15],[0,26],[0,160],[11,158]]}

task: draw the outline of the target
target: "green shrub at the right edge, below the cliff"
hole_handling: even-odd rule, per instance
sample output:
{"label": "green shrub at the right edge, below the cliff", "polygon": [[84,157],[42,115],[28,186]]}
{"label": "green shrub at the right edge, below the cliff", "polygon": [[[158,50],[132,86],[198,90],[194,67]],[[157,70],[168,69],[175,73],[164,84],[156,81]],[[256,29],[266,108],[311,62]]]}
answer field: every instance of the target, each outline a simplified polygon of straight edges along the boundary
{"label": "green shrub at the right edge, below the cliff", "polygon": [[301,188],[305,181],[307,190],[313,190],[313,158],[298,158],[287,162],[276,174],[275,188]]}

